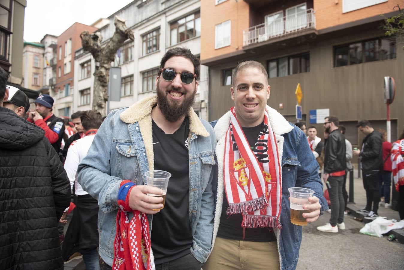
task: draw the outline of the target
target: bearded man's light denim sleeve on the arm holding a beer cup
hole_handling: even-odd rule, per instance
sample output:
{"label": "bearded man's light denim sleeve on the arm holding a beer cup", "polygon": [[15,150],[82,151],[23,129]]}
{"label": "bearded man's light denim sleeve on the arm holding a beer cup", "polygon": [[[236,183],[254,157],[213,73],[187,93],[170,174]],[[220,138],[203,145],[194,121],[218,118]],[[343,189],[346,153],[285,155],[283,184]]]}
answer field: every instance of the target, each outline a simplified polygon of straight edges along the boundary
{"label": "bearded man's light denim sleeve on the arm holding a beer cup", "polygon": [[118,190],[122,179],[111,176],[110,157],[114,113],[105,118],[98,129],[87,156],[78,166],[78,182],[83,190],[98,200],[104,212],[117,209]]}

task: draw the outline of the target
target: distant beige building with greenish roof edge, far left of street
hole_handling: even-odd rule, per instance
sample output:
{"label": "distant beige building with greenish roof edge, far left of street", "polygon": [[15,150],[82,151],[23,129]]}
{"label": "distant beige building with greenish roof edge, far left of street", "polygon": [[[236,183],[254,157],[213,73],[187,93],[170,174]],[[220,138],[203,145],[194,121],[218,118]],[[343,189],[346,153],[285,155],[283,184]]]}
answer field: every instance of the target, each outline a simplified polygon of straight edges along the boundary
{"label": "distant beige building with greenish roof edge, far left of street", "polygon": [[44,45],[38,42],[24,42],[23,83],[21,86],[36,90],[43,85]]}

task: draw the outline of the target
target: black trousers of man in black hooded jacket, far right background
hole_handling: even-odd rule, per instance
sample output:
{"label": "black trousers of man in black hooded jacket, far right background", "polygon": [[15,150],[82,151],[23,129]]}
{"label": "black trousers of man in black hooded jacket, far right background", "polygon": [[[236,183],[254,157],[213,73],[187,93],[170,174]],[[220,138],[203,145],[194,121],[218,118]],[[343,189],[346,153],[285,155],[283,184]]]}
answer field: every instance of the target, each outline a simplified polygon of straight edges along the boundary
{"label": "black trousers of man in black hooded jacket, far right background", "polygon": [[[377,187],[377,183],[381,179],[381,173],[379,171],[362,171],[363,187],[366,190],[366,210],[372,210],[377,214],[379,209],[380,193]],[[373,208],[372,208],[373,203]]]}

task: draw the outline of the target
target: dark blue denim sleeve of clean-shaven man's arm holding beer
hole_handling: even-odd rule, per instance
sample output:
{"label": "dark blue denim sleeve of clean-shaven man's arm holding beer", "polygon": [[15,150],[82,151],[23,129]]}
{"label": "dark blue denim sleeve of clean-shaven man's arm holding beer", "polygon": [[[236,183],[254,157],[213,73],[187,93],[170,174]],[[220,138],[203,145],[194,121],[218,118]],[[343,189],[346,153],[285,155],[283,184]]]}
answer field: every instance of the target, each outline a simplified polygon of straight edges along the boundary
{"label": "dark blue denim sleeve of clean-shaven man's arm holding beer", "polygon": [[303,132],[299,133],[297,139],[297,159],[300,162],[300,167],[297,169],[296,187],[309,188],[314,190],[314,196],[316,196],[321,205],[321,215],[328,209],[328,204],[324,198],[323,184],[318,175],[318,169],[320,169],[316,158],[311,153],[309,143],[307,143],[306,136]]}

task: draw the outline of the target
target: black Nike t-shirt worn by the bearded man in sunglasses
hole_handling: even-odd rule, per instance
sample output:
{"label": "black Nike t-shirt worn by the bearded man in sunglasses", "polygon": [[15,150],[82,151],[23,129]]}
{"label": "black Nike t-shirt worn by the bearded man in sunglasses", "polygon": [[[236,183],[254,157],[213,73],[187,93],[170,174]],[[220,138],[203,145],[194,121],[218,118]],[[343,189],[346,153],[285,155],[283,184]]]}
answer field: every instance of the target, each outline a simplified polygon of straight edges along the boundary
{"label": "black Nike t-shirt worn by the bearded man in sunglasses", "polygon": [[189,222],[189,118],[174,134],[165,134],[152,121],[154,169],[171,173],[164,208],[153,215],[151,248],[156,264],[191,253]]}

